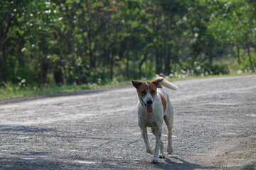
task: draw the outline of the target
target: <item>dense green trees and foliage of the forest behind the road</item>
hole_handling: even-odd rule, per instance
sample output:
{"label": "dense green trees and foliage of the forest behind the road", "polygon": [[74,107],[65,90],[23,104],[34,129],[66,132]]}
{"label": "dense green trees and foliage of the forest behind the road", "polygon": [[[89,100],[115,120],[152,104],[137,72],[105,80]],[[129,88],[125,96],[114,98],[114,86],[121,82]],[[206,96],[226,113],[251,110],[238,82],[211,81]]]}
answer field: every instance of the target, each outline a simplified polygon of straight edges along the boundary
{"label": "dense green trees and foliage of the forest behind the road", "polygon": [[0,86],[255,72],[254,0],[2,0]]}

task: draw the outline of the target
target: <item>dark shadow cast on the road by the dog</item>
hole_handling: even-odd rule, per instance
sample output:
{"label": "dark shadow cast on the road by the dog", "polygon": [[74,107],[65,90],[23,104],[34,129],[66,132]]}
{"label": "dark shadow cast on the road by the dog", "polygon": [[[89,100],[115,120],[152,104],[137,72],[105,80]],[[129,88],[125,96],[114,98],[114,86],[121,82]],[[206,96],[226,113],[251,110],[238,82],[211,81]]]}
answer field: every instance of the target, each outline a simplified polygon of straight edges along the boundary
{"label": "dark shadow cast on the road by the dog", "polygon": [[[163,162],[164,161],[164,162]],[[160,164],[154,164],[159,169],[213,169],[213,166],[202,166],[200,164],[193,164],[191,162],[187,162],[178,157],[169,157],[165,159],[161,159]]]}

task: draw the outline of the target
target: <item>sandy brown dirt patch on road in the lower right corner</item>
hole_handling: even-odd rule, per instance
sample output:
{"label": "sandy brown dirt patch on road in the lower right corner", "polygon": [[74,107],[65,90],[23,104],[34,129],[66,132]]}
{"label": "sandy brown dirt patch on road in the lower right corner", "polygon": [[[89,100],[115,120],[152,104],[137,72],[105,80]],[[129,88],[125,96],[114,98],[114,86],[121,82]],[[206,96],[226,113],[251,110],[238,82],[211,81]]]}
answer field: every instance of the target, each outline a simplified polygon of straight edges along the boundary
{"label": "sandy brown dirt patch on road in the lower right corner", "polygon": [[218,143],[220,147],[208,153],[206,162],[208,161],[221,169],[256,169],[255,135],[225,137]]}

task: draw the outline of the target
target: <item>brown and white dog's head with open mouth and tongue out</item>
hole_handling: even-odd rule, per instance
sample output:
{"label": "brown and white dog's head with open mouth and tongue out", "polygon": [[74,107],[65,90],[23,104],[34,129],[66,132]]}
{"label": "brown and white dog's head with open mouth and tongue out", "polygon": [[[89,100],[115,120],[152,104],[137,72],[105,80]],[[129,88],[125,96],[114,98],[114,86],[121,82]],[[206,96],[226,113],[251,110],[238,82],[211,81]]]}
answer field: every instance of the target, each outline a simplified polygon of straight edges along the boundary
{"label": "brown and white dog's head with open mouth and tongue out", "polygon": [[132,80],[132,85],[137,89],[139,100],[143,103],[147,113],[152,113],[152,105],[154,98],[156,98],[156,89],[159,83],[164,79],[155,79],[153,81],[137,81]]}

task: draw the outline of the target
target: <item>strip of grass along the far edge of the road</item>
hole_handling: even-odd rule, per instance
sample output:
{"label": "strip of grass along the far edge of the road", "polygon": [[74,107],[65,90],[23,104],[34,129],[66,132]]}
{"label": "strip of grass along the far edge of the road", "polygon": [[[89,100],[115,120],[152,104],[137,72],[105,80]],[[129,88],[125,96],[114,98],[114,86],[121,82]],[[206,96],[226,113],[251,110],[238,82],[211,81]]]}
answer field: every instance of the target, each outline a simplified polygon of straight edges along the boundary
{"label": "strip of grass along the far edge of the road", "polygon": [[[183,78],[171,78],[169,81],[183,80],[183,79],[204,79],[204,78],[212,78],[212,77],[236,77],[236,76],[245,76],[252,75],[255,73],[248,74],[225,74],[225,75],[210,75],[204,77],[183,77]],[[97,88],[105,88],[105,87],[114,87],[114,86],[122,86],[125,84],[130,84],[130,81],[113,81],[104,85],[97,84],[82,84],[82,85],[73,85],[73,86],[46,86],[43,88],[37,87],[23,87],[18,85],[14,85],[11,83],[7,83],[5,88],[0,89],[0,98],[15,98],[21,96],[31,96],[31,95],[39,95],[39,94],[53,94],[53,93],[63,93],[63,92],[71,92],[80,89],[97,89]]]}

